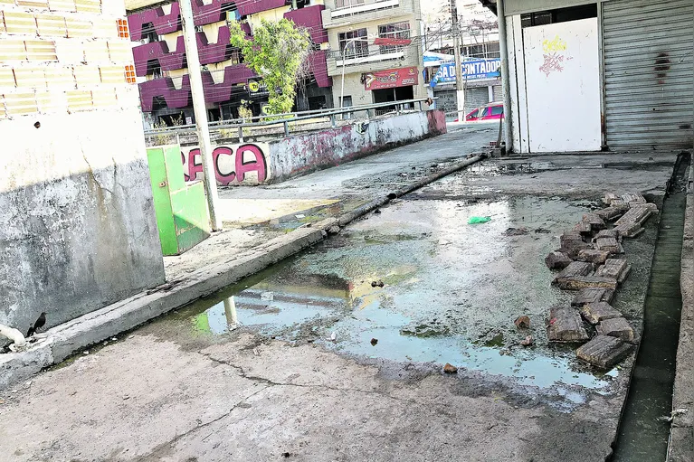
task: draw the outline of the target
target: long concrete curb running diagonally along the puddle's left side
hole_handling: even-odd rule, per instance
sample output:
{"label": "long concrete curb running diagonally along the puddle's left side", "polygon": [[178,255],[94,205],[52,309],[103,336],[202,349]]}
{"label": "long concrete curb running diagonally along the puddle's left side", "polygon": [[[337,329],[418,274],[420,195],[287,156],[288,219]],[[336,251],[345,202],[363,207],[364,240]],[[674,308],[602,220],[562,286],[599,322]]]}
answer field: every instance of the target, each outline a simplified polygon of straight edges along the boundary
{"label": "long concrete curb running diagonally along the puddle's left side", "polygon": [[78,317],[47,331],[43,339],[28,350],[0,355],[0,390],[23,381],[37,372],[62,362],[74,352],[97,344],[114,335],[142,325],[157,316],[164,315],[178,307],[214,294],[242,278],[266,269],[282,259],[307,249],[328,235],[326,231],[334,226],[346,226],[368,212],[382,207],[397,197],[410,193],[444,176],[458,172],[465,167],[480,162],[484,155],[456,163],[441,172],[431,174],[393,193],[376,198],[339,218],[291,231],[285,236],[270,240],[252,250],[243,252],[222,263],[198,269],[185,279],[167,283],[154,290],[121,300],[97,311]]}

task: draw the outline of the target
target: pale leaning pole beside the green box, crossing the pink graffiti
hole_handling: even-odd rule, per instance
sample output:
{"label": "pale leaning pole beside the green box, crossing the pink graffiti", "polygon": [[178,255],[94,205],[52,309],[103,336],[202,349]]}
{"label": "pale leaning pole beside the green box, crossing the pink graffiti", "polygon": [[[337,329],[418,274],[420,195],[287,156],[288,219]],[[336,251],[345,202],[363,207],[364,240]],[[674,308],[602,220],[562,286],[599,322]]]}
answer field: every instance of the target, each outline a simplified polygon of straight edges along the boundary
{"label": "pale leaning pole beside the green box, crossing the pink graffiti", "polygon": [[219,210],[217,207],[219,194],[217,193],[217,179],[214,175],[210,127],[207,125],[207,108],[204,106],[203,78],[200,70],[200,57],[197,54],[197,41],[195,40],[193,5],[191,5],[191,0],[181,0],[178,3],[181,7],[181,26],[183,27],[183,35],[185,37],[185,58],[188,62],[190,91],[193,96],[197,142],[200,145],[200,156],[203,159],[204,190],[207,193],[207,208],[210,211],[212,231],[222,231],[222,217],[217,214]]}

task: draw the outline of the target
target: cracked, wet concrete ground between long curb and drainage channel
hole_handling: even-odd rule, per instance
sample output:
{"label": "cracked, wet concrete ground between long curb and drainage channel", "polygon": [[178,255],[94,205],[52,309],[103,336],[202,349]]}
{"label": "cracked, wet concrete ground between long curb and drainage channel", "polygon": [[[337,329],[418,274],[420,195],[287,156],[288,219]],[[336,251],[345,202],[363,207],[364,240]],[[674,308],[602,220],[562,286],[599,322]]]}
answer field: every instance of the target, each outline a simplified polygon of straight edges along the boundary
{"label": "cracked, wet concrete ground between long curb and drainage channel", "polygon": [[[12,423],[0,429],[0,451],[18,461],[602,461],[632,359],[594,375],[547,345],[546,305],[566,296],[549,288],[542,259],[605,184],[662,198],[674,156],[628,162],[493,160],[447,177],[3,392]],[[471,214],[492,222],[470,228]],[[508,227],[549,233],[514,238]],[[628,244],[634,269],[617,301],[639,333],[654,240],[651,219]],[[518,347],[518,312],[533,320],[529,353]],[[456,375],[442,374],[449,361]]]}

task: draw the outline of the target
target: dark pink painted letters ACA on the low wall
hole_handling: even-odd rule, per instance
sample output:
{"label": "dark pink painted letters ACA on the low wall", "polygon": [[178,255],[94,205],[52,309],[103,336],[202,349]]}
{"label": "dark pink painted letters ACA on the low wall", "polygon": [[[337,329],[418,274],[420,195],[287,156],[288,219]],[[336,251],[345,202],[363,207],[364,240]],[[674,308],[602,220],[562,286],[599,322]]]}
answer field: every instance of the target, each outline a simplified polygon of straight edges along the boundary
{"label": "dark pink painted letters ACA on the low wall", "polygon": [[[247,160],[248,156],[252,158]],[[233,157],[233,171],[224,171],[222,159],[225,156]],[[184,166],[186,166],[185,155],[181,154],[181,158]],[[262,152],[260,146],[256,145],[242,145],[236,149],[234,153],[233,147],[230,146],[219,146],[212,152],[212,160],[214,164],[214,176],[216,177],[217,184],[229,185],[236,183],[243,183],[246,179],[246,175],[252,172],[258,174],[258,183],[262,183],[268,178],[268,168],[265,160],[265,155]],[[228,165],[228,163],[226,163]],[[198,179],[198,173],[203,173],[203,162],[202,156],[200,155],[200,149],[191,149],[188,152],[187,158],[187,174],[185,175],[185,181],[195,181]],[[202,175],[201,175],[202,176]]]}

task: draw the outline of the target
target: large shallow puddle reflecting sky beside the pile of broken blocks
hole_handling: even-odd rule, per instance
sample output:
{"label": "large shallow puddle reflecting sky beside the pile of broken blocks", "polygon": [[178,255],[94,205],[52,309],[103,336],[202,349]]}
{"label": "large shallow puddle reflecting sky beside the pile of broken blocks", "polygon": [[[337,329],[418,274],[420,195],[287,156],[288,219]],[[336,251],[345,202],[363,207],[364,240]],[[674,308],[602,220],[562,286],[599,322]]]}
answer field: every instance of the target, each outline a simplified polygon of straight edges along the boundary
{"label": "large shallow puddle reflecting sky beside the pile of broken blocks", "polygon": [[[549,346],[545,329],[549,307],[571,295],[550,288],[543,256],[585,212],[585,203],[533,197],[401,201],[174,316],[191,335],[251,331],[339,354],[606,391],[618,370],[585,368],[572,347]],[[491,222],[469,225],[471,216]],[[509,228],[528,234],[507,236]],[[372,287],[378,281],[385,287]],[[530,331],[513,324],[522,315]],[[519,346],[526,335],[536,346]],[[568,401],[584,399],[562,390]]]}

